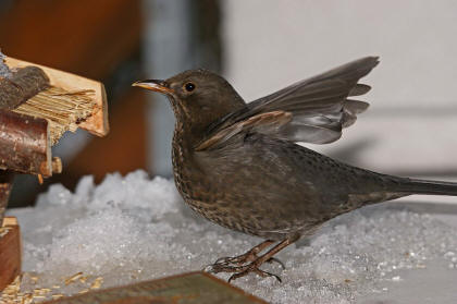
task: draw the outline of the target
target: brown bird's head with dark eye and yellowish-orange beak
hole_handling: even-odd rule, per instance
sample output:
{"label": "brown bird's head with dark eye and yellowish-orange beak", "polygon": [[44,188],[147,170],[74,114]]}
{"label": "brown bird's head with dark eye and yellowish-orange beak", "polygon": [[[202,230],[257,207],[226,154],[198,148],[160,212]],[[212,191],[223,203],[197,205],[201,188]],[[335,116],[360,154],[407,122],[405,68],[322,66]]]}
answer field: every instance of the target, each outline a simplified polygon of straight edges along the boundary
{"label": "brown bird's head with dark eye and yellowish-orange beak", "polygon": [[227,81],[207,70],[189,70],[165,81],[139,81],[133,86],[164,94],[177,122],[197,132],[245,106]]}

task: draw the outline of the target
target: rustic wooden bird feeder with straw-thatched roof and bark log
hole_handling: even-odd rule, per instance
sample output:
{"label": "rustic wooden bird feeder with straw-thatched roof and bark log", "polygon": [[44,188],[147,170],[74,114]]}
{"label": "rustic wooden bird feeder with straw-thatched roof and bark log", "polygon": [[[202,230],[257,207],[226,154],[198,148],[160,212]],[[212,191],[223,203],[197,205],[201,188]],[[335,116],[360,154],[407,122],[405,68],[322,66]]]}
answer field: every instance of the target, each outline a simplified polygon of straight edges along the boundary
{"label": "rustic wooden bird feeder with straw-thatched roof and bark log", "polygon": [[15,172],[62,171],[51,147],[65,131],[108,134],[103,84],[0,53],[0,291],[21,271],[17,221],[4,218]]}

